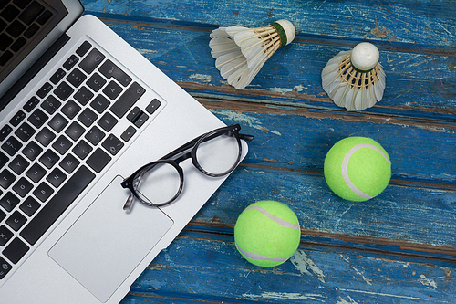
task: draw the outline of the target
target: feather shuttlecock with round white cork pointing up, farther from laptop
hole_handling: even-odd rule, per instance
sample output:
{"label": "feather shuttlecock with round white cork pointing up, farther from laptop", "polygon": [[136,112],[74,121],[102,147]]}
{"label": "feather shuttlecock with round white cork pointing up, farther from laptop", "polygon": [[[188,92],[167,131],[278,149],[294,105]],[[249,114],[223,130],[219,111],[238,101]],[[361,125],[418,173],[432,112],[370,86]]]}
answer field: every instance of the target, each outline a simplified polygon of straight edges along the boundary
{"label": "feather shuttlecock with round white cork pointing up, farther from laptop", "polygon": [[323,68],[323,89],[337,106],[347,110],[374,106],[382,99],[386,83],[378,58],[378,48],[368,42],[338,53]]}

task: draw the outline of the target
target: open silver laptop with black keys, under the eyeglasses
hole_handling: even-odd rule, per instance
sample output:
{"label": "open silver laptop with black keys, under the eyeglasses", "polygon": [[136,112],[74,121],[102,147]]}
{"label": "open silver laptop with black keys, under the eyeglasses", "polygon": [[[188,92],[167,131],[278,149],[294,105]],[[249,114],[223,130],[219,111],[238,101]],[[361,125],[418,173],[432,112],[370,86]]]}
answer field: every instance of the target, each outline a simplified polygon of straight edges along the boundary
{"label": "open silver laptop with black keys, under the eyeglasses", "polygon": [[119,303],[227,176],[184,161],[130,212],[120,183],[225,125],[78,0],[0,0],[0,31],[0,301]]}

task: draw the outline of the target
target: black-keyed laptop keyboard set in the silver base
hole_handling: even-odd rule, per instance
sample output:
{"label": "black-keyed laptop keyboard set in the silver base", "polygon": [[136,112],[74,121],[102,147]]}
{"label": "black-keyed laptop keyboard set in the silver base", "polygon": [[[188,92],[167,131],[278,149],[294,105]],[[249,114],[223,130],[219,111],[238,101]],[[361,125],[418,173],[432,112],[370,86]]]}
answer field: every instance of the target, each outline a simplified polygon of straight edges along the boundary
{"label": "black-keyed laptop keyboard set in the silver base", "polygon": [[145,92],[85,41],[0,129],[0,279],[161,106]]}

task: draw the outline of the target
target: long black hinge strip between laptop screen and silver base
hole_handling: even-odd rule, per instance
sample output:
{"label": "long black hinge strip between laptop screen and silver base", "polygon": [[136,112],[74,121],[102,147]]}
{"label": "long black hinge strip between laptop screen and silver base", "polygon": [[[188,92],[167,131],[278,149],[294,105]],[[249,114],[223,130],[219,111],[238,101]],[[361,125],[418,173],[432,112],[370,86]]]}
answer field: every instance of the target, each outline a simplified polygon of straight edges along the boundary
{"label": "long black hinge strip between laptop screen and silver base", "polygon": [[3,110],[6,107],[6,105],[11,100],[13,100],[16,97],[16,95],[22,89],[24,89],[24,87],[26,87],[26,84],[31,79],[33,79],[42,68],[44,68],[47,65],[47,62],[49,62],[49,60],[53,58],[57,54],[57,52],[67,44],[69,39],[70,37],[64,33],[57,39],[56,42],[54,42],[54,44],[51,47],[47,49],[47,51],[40,58],[36,60],[33,66],[30,67],[26,71],[26,73],[19,80],[16,81],[13,87],[6,91],[5,95],[2,96],[2,98],[0,98],[0,110]]}

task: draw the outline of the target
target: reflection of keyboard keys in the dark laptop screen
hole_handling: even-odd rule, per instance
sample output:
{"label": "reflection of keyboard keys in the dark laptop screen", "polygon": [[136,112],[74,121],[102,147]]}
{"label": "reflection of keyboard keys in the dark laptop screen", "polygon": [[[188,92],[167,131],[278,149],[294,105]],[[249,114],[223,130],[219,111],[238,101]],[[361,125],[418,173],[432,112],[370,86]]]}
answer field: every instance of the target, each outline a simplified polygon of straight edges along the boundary
{"label": "reflection of keyboard keys in the dark laptop screen", "polygon": [[0,0],[0,67],[22,50],[53,15],[36,0]]}

